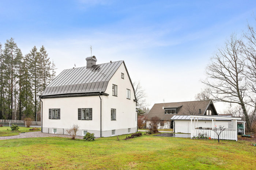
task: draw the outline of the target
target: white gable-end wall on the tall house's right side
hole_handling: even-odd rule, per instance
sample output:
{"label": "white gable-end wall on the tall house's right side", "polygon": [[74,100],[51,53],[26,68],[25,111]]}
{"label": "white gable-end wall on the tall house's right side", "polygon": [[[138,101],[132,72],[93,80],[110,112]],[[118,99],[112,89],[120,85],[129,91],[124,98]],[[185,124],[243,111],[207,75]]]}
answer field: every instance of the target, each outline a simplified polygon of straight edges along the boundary
{"label": "white gable-end wall on the tall house's right side", "polygon": [[[121,73],[124,73],[124,79],[121,78]],[[117,96],[112,95],[112,84],[117,85]],[[130,98],[127,99],[126,92],[130,90]],[[116,73],[109,80],[108,87],[105,91],[109,96],[102,96],[102,131],[111,132],[111,130],[137,127],[136,121],[136,102],[132,84],[130,83],[128,74],[125,70],[124,64],[117,69]],[[116,120],[111,120],[111,108],[116,109]],[[135,132],[135,131],[133,131]],[[104,136],[108,133],[103,133]],[[118,131],[116,130],[116,135]]]}

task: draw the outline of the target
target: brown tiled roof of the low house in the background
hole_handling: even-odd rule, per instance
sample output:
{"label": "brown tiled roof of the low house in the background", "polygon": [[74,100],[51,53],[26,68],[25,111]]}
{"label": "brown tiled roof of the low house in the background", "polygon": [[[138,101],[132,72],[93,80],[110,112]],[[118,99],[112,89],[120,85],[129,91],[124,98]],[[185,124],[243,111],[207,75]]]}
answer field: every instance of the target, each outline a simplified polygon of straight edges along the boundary
{"label": "brown tiled roof of the low house in the background", "polygon": [[[203,115],[204,112],[206,112],[207,107],[210,106],[210,104],[212,104],[213,106],[212,100],[174,102],[174,103],[156,103],[147,114],[146,119],[150,120],[152,117],[157,116],[160,120],[170,120],[174,115],[191,115],[191,112],[193,111],[197,115]],[[177,114],[165,114],[165,110],[163,109],[163,107],[178,108]],[[199,114],[199,109],[201,109],[200,114]]]}

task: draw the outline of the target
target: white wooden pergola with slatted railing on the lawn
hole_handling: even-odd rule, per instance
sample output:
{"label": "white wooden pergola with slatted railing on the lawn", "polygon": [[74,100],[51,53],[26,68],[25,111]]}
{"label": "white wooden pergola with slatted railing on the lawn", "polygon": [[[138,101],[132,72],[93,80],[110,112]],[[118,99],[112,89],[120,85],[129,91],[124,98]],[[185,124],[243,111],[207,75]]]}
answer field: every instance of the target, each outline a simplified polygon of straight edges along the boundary
{"label": "white wooden pergola with slatted railing on the lawn", "polygon": [[[236,140],[237,141],[237,122],[244,124],[245,133],[245,122],[241,121],[241,118],[225,117],[225,116],[197,116],[191,115],[191,138],[197,137],[198,134],[206,134],[212,139],[217,139],[217,135],[212,130],[214,127],[225,126],[225,130],[221,133],[220,139]],[[199,120],[212,120],[211,129],[197,129]],[[194,120],[194,121],[193,121]],[[239,121],[240,120],[240,121]]]}

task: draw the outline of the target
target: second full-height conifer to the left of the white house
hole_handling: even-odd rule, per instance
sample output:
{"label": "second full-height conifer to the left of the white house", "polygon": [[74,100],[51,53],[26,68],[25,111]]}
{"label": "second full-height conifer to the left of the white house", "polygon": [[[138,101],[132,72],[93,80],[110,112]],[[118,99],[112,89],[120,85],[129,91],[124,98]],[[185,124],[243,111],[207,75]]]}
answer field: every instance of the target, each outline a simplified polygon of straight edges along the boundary
{"label": "second full-height conifer to the left of the white house", "polygon": [[34,94],[34,118],[36,119],[37,116],[37,104],[38,104],[38,92],[40,92],[40,63],[39,63],[39,54],[37,52],[37,48],[34,46],[29,56],[29,68],[31,74],[31,84],[33,87],[33,94]]}

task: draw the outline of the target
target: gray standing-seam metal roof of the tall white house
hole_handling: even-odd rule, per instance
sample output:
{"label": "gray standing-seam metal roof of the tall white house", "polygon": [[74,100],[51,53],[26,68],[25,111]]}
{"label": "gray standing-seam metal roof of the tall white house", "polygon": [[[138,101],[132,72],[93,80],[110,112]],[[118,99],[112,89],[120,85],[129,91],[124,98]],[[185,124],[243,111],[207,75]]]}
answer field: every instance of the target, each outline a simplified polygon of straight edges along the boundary
{"label": "gray standing-seam metal roof of the tall white house", "polygon": [[79,67],[62,71],[45,88],[42,97],[105,92],[109,80],[123,61]]}

